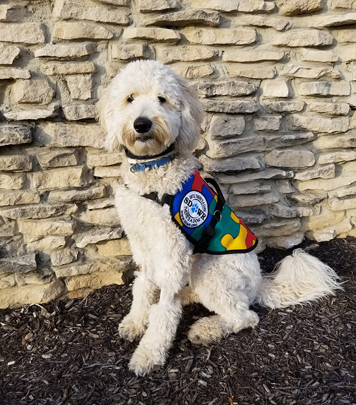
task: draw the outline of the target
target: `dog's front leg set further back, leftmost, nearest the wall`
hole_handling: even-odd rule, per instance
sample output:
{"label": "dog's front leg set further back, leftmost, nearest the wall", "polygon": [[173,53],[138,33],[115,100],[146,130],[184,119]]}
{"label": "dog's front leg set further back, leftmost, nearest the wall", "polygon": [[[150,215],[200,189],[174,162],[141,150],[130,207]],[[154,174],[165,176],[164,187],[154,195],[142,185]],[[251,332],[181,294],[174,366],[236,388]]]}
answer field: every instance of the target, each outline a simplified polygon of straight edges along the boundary
{"label": "dog's front leg set further back, leftmost, nearest the wall", "polygon": [[149,310],[155,301],[157,287],[147,280],[144,273],[136,272],[132,287],[133,301],[130,312],[118,326],[121,337],[133,341],[143,335],[149,321]]}

